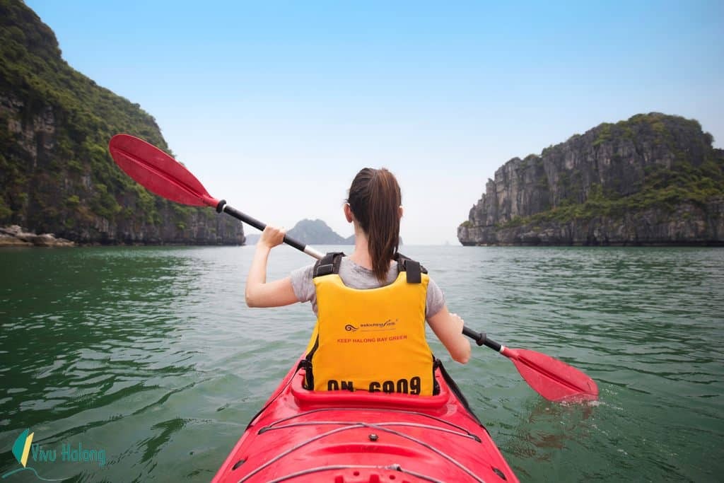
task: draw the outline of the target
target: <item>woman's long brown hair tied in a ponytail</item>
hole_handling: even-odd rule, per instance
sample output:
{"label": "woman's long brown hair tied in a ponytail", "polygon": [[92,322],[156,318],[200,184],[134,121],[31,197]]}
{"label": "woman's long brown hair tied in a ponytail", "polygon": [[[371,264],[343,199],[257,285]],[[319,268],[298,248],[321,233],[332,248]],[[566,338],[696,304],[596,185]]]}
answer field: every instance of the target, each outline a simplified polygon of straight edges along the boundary
{"label": "woman's long brown hair tied in a ponytail", "polygon": [[382,282],[400,244],[400,185],[387,169],[363,168],[352,181],[347,202],[367,235],[372,271]]}

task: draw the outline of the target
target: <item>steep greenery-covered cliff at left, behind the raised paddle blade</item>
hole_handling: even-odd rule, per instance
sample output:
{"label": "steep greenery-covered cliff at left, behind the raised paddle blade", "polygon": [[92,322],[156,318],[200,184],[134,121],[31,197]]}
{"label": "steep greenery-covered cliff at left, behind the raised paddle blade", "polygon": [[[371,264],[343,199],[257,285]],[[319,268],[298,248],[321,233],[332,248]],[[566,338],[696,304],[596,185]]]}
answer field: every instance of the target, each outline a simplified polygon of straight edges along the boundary
{"label": "steep greenery-covered cliff at left, behind the raised paddle blade", "polygon": [[22,1],[0,1],[0,61],[0,226],[77,243],[244,243],[240,222],[154,196],[114,164],[117,133],[169,151],[159,126],[73,70]]}

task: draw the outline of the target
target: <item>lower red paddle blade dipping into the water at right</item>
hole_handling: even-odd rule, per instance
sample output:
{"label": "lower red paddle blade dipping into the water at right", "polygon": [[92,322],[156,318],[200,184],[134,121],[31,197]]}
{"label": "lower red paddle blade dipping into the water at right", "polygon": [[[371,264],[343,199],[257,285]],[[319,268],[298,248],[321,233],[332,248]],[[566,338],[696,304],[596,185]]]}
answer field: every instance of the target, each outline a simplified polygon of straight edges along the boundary
{"label": "lower red paddle blade dipping into the water at right", "polygon": [[596,382],[573,366],[551,356],[527,349],[505,348],[523,379],[547,400],[583,401],[598,398]]}

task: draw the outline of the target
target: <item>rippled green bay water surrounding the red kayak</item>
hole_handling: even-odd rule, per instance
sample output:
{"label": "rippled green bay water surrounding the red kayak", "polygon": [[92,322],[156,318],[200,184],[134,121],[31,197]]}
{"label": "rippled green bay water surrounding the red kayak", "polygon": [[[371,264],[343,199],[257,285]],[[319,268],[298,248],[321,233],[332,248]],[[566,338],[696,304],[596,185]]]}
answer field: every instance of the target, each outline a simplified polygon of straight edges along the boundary
{"label": "rippled green bay water surrounding the red kayak", "polygon": [[[45,478],[208,481],[300,355],[308,304],[251,309],[253,247],[0,251],[0,474],[26,428]],[[600,400],[549,403],[513,364],[432,343],[523,481],[721,481],[724,250],[405,247],[466,324],[556,356]],[[270,277],[309,263],[277,248]],[[62,445],[104,450],[62,460]],[[38,481],[30,471],[4,481]]]}

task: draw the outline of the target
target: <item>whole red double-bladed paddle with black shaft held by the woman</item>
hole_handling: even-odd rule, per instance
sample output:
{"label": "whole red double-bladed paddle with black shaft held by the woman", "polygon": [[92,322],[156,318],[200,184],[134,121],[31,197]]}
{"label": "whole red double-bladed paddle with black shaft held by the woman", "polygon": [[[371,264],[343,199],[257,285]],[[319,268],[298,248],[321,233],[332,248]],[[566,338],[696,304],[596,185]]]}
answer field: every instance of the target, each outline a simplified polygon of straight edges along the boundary
{"label": "whole red double-bladed paddle with black shaft held by the woman", "polygon": [[[213,206],[219,213],[223,211],[230,214],[258,230],[266,227],[266,224],[227,205],[226,201],[209,195],[188,169],[156,146],[127,134],[119,134],[111,138],[108,147],[119,167],[149,191],[177,203]],[[289,236],[285,236],[284,242],[316,259],[324,256]],[[564,362],[533,350],[509,349],[468,327],[463,328],[463,334],[471,337],[478,345],[487,345],[510,358],[523,379],[548,400],[578,401],[598,397],[594,380]]]}

